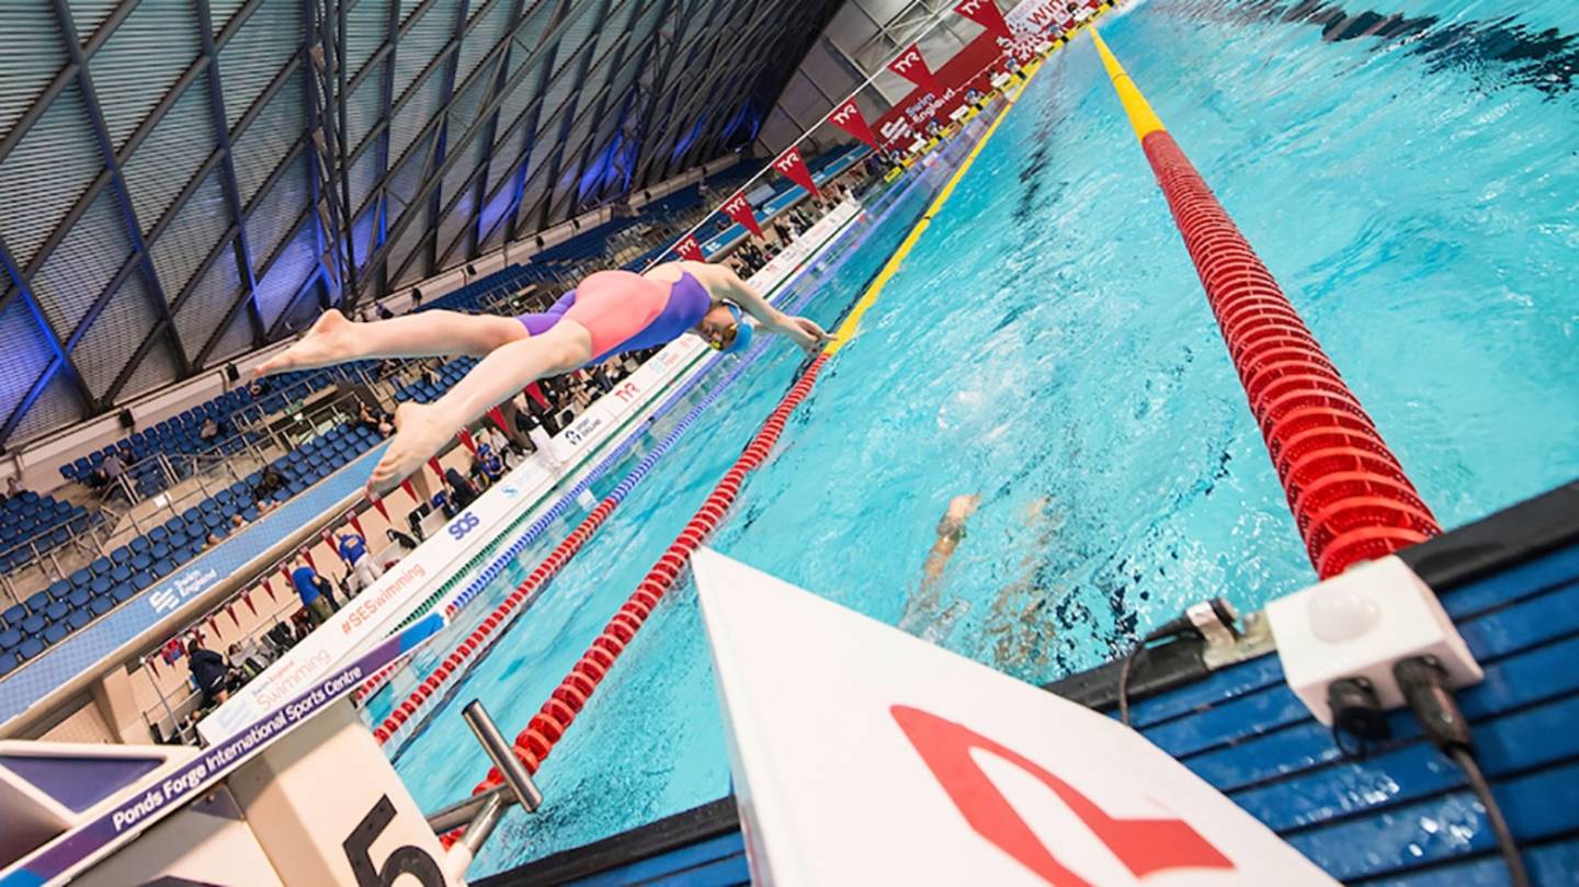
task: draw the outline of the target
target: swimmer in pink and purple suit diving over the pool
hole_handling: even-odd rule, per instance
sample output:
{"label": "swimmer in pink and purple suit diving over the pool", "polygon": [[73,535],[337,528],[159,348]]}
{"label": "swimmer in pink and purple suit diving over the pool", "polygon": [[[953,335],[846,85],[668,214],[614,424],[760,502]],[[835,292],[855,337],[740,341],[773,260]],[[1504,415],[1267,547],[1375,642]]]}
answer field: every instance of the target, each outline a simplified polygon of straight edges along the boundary
{"label": "swimmer in pink and purple suit diving over the pool", "polygon": [[423,311],[388,320],[354,322],[325,311],[257,376],[387,357],[482,360],[431,404],[406,402],[395,412],[395,439],[368,485],[385,489],[415,472],[455,432],[527,384],[602,363],[617,354],[699,336],[715,350],[739,354],[756,319],[764,333],[782,333],[815,354],[827,333],[805,317],[790,317],[734,271],[706,262],[666,262],[644,275],[597,271],[542,314],[499,317]]}

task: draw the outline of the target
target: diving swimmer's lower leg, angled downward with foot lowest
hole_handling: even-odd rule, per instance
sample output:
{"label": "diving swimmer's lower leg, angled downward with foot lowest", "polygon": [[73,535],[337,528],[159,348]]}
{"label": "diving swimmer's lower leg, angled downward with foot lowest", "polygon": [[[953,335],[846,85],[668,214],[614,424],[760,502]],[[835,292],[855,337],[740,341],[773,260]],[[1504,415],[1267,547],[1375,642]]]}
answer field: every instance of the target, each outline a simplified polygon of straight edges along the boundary
{"label": "diving swimmer's lower leg, angled downward with foot lowest", "polygon": [[376,489],[398,483],[489,407],[513,398],[529,382],[568,372],[589,360],[592,335],[570,319],[554,324],[542,335],[493,349],[437,401],[406,402],[395,410],[395,437],[368,483]]}

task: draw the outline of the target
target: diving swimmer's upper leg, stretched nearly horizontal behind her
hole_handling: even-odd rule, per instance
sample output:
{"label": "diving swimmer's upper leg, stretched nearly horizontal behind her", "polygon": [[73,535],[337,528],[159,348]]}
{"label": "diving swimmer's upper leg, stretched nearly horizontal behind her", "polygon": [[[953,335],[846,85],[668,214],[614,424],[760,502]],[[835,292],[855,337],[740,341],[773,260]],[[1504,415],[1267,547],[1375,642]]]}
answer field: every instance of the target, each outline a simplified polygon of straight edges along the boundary
{"label": "diving swimmer's upper leg, stretched nearly horizontal behind her", "polygon": [[302,341],[268,358],[254,372],[270,376],[382,357],[483,357],[526,336],[526,327],[515,317],[422,311],[363,324],[347,320],[332,308],[319,316]]}

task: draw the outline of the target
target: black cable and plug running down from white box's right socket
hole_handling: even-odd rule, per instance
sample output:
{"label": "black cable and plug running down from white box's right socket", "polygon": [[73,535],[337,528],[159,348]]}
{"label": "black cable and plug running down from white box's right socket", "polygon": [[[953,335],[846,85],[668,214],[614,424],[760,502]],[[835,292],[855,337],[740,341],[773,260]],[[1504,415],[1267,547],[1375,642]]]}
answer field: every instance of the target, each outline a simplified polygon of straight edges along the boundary
{"label": "black cable and plug running down from white box's right socket", "polygon": [[1497,835],[1497,848],[1502,851],[1503,863],[1508,866],[1508,878],[1513,887],[1530,887],[1530,874],[1524,868],[1524,857],[1519,855],[1519,843],[1508,829],[1508,821],[1502,814],[1497,797],[1491,792],[1491,781],[1475,761],[1475,745],[1470,740],[1470,723],[1464,718],[1457,699],[1448,690],[1448,674],[1435,657],[1415,657],[1393,666],[1404,699],[1421,729],[1431,742],[1454,764],[1457,764],[1470,789],[1486,808],[1486,819]]}

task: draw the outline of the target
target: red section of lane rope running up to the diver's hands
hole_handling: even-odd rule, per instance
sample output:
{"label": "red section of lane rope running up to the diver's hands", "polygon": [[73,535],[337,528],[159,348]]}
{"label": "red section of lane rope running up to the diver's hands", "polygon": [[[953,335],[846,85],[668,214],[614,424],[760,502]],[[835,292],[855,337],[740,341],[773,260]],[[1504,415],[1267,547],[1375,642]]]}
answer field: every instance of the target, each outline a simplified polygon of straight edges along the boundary
{"label": "red section of lane rope running up to the diver's hands", "polygon": [[[521,759],[521,764],[529,773],[537,773],[543,761],[553,753],[554,745],[564,737],[565,729],[570,728],[576,720],[576,713],[586,707],[587,699],[597,691],[598,683],[608,674],[608,669],[614,664],[614,660],[625,650],[630,641],[641,631],[643,623],[646,623],[647,616],[652,614],[654,608],[665,593],[669,592],[679,582],[681,573],[685,570],[685,563],[690,556],[701,546],[712,532],[718,527],[718,521],[723,515],[734,505],[736,496],[741,494],[741,486],[745,483],[747,472],[755,470],[767,458],[774,444],[778,442],[778,436],[785,429],[785,423],[790,421],[790,414],[812,393],[812,387],[816,384],[816,376],[823,369],[823,363],[827,361],[827,354],[818,355],[801,376],[801,379],[790,388],[778,406],[769,414],[767,421],[756,431],[752,442],[745,445],[741,458],[734,461],[734,466],[723,473],[723,478],[717,486],[712,488],[712,494],[701,503],[701,508],[692,515],[692,519],[681,530],[681,535],[669,545],[663,557],[652,565],[646,578],[636,584],[636,590],[630,593],[624,606],[614,612],[614,617],[608,620],[603,631],[592,639],[592,644],[581,655],[581,660],[570,669],[570,674],[559,682],[559,687],[548,694],[548,701],[543,702],[537,715],[526,724],[515,737],[515,756]],[[602,508],[602,505],[600,505]],[[587,518],[591,519],[591,516]],[[576,529],[579,532],[579,527]],[[575,535],[575,533],[572,533]],[[565,540],[567,543],[570,540]],[[542,570],[542,568],[538,568]],[[534,573],[535,576],[535,573]],[[516,592],[519,593],[519,592]],[[512,595],[513,597],[513,595]],[[491,617],[489,617],[491,619]],[[485,622],[486,625],[486,622]],[[448,660],[445,660],[448,664]],[[472,794],[482,794],[504,784],[504,777],[499,769],[494,767],[488,770],[483,781],[477,783]],[[448,848],[455,843],[464,829],[456,829],[442,836],[442,843]]]}

